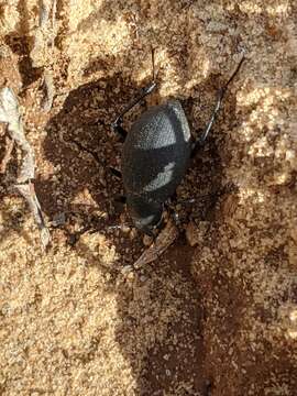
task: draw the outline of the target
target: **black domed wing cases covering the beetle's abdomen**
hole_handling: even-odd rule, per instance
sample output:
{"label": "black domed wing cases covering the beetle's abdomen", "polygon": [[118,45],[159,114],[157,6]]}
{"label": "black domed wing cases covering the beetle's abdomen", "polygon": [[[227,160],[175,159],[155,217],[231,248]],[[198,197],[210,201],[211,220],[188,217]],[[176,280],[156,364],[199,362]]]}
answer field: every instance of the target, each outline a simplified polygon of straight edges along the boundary
{"label": "black domed wing cases covering the beetle's abdomen", "polygon": [[127,196],[164,204],[180,184],[190,157],[190,130],[182,105],[148,108],[129,131],[122,154]]}

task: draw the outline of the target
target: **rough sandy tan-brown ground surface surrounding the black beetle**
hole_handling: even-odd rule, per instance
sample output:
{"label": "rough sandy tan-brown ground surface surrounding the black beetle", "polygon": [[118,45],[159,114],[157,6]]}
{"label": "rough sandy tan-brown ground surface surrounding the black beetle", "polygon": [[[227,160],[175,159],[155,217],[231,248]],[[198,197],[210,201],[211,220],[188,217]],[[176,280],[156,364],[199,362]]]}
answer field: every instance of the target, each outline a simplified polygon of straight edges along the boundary
{"label": "rough sandy tan-brown ground surface surrounding the black beetle", "polygon": [[[196,198],[176,208],[194,246],[182,235],[124,274],[145,246],[111,205],[109,124],[150,81],[151,47],[158,90],[127,128],[175,97],[200,133],[246,62],[177,190]],[[14,148],[0,175],[1,395],[296,395],[296,65],[294,0],[0,2],[0,84],[20,98],[53,237],[45,255],[9,189]]]}

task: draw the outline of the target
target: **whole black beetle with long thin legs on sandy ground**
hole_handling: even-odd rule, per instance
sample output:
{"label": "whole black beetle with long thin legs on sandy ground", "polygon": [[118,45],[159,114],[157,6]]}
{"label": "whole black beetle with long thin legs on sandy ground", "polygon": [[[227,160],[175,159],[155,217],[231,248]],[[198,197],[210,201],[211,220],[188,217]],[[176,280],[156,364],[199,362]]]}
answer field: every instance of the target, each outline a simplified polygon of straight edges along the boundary
{"label": "whole black beetle with long thin legs on sandy ground", "polygon": [[217,105],[201,136],[193,140],[188,121],[178,100],[148,108],[132,124],[128,133],[122,127],[123,116],[156,88],[154,51],[152,51],[153,81],[143,88],[111,124],[123,140],[122,177],[128,211],[134,226],[145,234],[154,235],[163,218],[166,201],[180,184],[190,157],[205,141],[220,110],[229,84],[238,74],[244,56],[227,84],[219,89]]}

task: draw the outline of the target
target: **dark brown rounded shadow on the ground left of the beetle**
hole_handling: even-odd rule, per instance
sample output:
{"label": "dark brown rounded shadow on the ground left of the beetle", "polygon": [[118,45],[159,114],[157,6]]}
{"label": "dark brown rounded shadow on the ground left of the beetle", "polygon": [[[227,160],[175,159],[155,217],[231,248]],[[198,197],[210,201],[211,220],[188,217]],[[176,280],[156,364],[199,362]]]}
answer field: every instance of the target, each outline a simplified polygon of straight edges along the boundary
{"label": "dark brown rounded shadow on the ground left of the beetle", "polygon": [[[117,253],[123,256],[122,264],[138,257],[142,235],[134,238],[130,257],[124,254],[131,245],[128,235],[121,238],[121,243],[119,238],[112,238],[117,233],[112,229],[121,224],[120,215],[124,211],[114,202],[122,194],[122,183],[108,168],[120,166],[122,147],[110,123],[139,89],[116,75],[70,91],[61,111],[45,128],[43,153],[48,163],[47,173],[52,175],[37,178],[35,184],[50,220],[56,215],[66,215],[66,223],[59,228],[68,243],[75,244],[84,231],[106,233],[112,239]],[[117,91],[123,94],[120,96]],[[135,112],[143,111],[145,106],[140,103]],[[135,112],[128,114],[128,124],[131,116],[136,117]],[[53,234],[55,239],[55,230]]]}

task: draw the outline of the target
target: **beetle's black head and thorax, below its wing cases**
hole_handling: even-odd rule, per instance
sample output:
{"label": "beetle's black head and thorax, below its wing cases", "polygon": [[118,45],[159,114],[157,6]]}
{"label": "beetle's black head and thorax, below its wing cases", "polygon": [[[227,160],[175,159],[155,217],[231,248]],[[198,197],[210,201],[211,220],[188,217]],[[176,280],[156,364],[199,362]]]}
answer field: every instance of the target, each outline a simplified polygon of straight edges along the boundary
{"label": "beetle's black head and thorax, below its wing cases", "polygon": [[150,202],[142,197],[128,196],[127,208],[134,226],[145,234],[153,237],[153,230],[162,221],[163,205]]}

